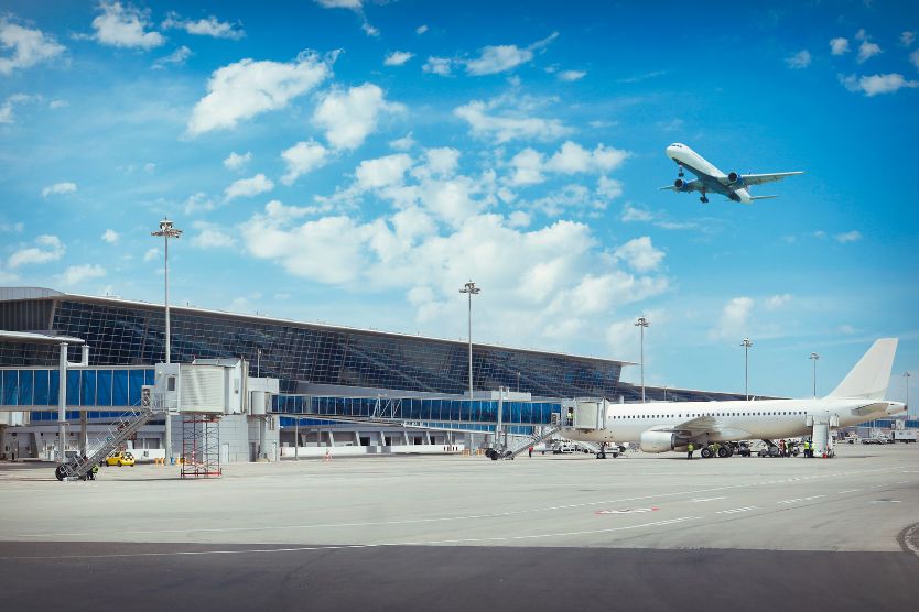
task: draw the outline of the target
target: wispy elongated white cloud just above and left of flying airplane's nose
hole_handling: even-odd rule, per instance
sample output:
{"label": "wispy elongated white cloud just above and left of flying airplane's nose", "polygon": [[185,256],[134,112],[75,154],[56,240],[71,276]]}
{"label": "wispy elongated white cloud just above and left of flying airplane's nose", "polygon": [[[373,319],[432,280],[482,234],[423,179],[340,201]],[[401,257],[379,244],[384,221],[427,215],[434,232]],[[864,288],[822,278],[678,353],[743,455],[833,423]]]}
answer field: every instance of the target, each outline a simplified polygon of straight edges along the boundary
{"label": "wispy elongated white cloud just above and left of flying airplane's nose", "polygon": [[555,140],[573,131],[559,119],[531,117],[533,106],[502,96],[488,102],[473,100],[453,113],[469,124],[473,135],[498,144],[517,139]]}

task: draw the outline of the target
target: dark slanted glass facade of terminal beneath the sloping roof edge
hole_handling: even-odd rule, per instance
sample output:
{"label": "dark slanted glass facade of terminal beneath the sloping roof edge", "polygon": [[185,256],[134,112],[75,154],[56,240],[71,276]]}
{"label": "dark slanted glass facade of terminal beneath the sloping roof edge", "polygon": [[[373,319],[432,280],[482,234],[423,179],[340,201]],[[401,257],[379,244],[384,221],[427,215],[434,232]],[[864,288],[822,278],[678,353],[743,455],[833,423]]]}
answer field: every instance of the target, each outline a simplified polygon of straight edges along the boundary
{"label": "dark slanted glass facade of terminal beneath the sloping roof edge", "polygon": [[[113,298],[58,294],[40,296],[23,288],[0,292],[0,324],[11,331],[74,336],[90,347],[90,363],[145,365],[163,361],[164,310],[160,306]],[[43,323],[46,321],[46,323]],[[467,345],[294,321],[246,317],[177,307],[171,310],[172,361],[195,358],[244,358],[250,374],[280,380],[282,394],[303,394],[307,385],[353,386],[435,394],[464,394],[468,389]],[[35,328],[44,325],[45,327]],[[79,359],[71,348],[71,361]],[[260,356],[260,357],[259,357]],[[57,347],[0,342],[0,365],[53,367]],[[258,363],[258,365],[257,365]],[[638,401],[639,387],[619,381],[618,361],[473,345],[476,390],[529,392],[538,397],[606,397]],[[112,374],[113,375],[113,374]],[[99,391],[98,386],[101,391]],[[68,402],[94,395],[102,402],[121,390],[109,379],[68,385]],[[313,392],[312,387],[310,389]],[[732,400],[735,394],[647,387],[649,400]],[[357,394],[356,394],[357,395]],[[116,403],[120,397],[111,396]]]}

